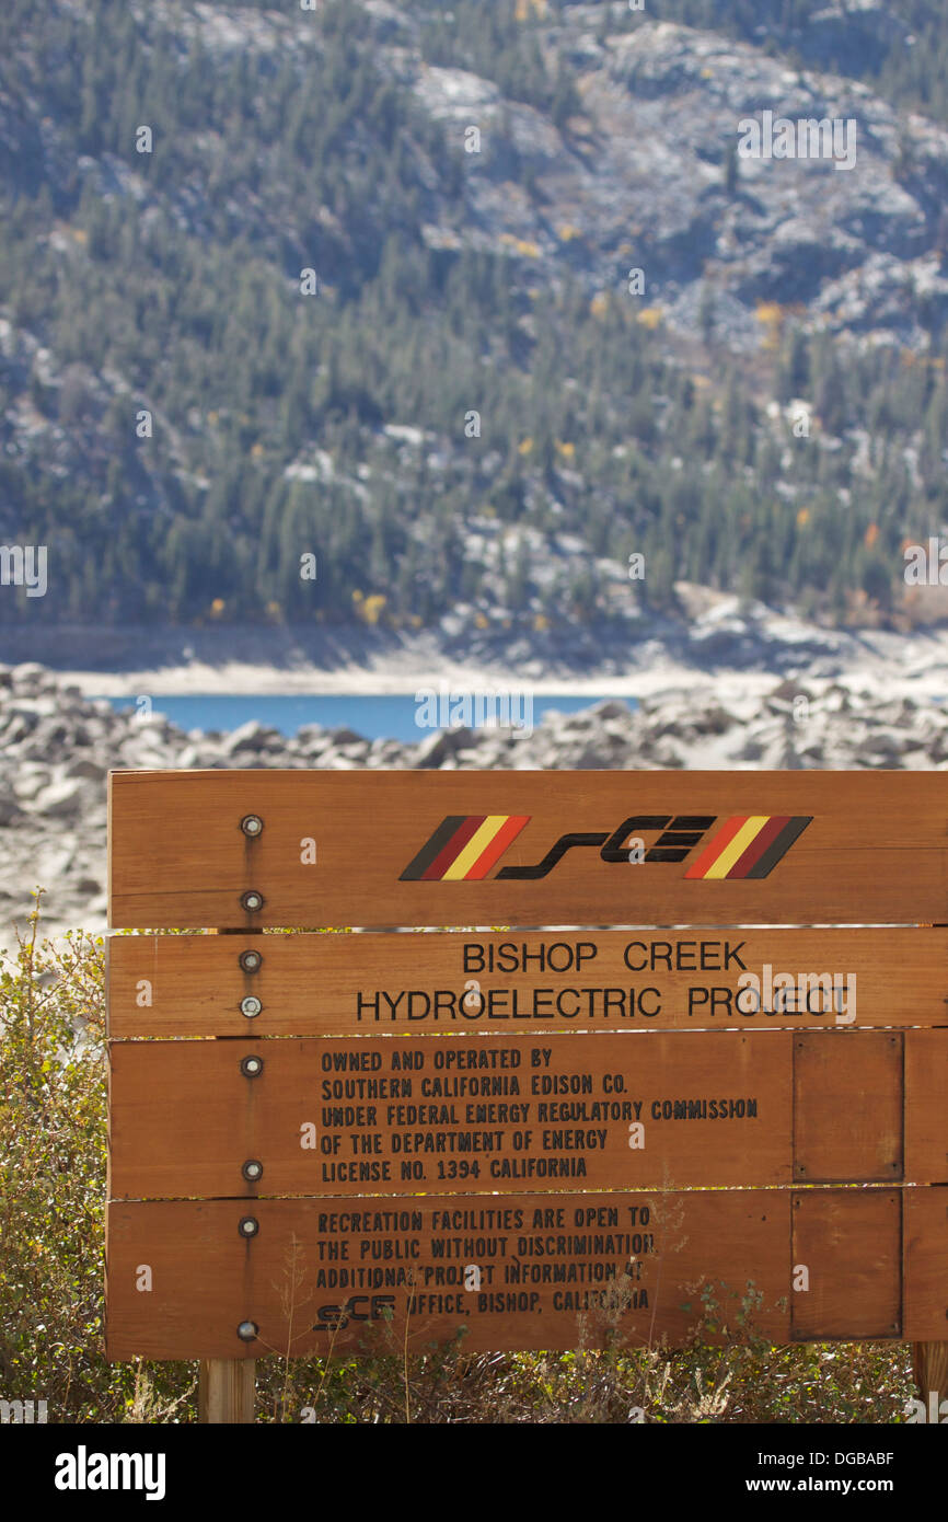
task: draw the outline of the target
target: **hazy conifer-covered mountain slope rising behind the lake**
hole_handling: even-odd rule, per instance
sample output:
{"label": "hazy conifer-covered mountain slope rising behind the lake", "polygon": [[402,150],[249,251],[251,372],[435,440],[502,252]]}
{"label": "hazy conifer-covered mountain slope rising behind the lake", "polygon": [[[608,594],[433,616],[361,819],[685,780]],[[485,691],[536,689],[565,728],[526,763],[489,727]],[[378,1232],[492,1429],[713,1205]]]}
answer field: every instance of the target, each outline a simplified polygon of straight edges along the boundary
{"label": "hazy conifer-covered mountain slope rising behind the lake", "polygon": [[[50,571],[0,622],[910,615],[948,126],[814,67],[880,8],[727,11],[12,0],[0,537]],[[855,167],[738,160],[765,108],[855,119]]]}

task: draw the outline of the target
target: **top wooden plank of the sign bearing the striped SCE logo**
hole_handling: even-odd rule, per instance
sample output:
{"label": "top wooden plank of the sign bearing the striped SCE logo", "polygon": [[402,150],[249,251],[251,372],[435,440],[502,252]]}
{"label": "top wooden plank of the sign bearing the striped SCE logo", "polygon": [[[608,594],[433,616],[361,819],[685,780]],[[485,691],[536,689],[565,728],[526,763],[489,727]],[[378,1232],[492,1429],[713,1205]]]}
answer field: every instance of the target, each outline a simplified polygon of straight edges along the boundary
{"label": "top wooden plank of the sign bearing the striped SCE logo", "polygon": [[[250,814],[263,820],[256,839],[240,829]],[[767,846],[750,868],[768,864],[764,877],[689,878],[720,852],[729,822],[749,817],[810,823],[779,860]],[[526,823],[485,877],[447,880],[469,863],[457,831],[438,849],[446,820],[476,819]],[[685,860],[633,864],[631,840],[657,846],[660,829],[635,823],[644,819],[712,823],[695,829]],[[542,877],[502,875],[575,834],[595,843],[572,846]],[[945,918],[946,836],[943,772],[117,772],[110,922],[927,924]],[[418,863],[435,878],[406,878]],[[250,890],[263,896],[256,912],[242,904]]]}

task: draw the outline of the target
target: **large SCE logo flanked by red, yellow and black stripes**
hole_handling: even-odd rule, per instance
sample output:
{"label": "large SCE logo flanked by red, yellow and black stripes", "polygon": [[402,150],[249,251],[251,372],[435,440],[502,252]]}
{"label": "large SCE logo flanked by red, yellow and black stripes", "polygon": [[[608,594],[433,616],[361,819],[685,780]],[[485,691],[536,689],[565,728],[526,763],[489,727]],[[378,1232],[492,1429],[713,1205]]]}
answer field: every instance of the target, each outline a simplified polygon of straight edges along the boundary
{"label": "large SCE logo flanked by red, yellow and black stripes", "polygon": [[[399,881],[470,883],[485,878],[530,819],[530,814],[449,814]],[[639,860],[682,863],[691,858],[683,874],[688,878],[761,878],[773,872],[811,822],[813,814],[732,814],[712,831],[718,823],[717,814],[630,814],[612,834],[593,829],[560,836],[540,861],[502,866],[495,880],[546,877],[568,851],[580,846],[598,849],[603,861],[627,864],[628,842],[656,831],[657,839]]]}

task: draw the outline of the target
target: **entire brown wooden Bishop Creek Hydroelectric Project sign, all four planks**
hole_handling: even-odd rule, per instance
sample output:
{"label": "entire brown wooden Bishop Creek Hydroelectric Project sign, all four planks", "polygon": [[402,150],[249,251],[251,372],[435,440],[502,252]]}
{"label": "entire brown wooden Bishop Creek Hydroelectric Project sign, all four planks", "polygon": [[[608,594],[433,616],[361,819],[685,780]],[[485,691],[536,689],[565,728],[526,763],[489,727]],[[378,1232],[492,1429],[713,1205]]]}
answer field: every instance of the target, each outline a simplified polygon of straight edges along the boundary
{"label": "entire brown wooden Bishop Creek Hydroelectric Project sign, all four planks", "polygon": [[942,773],[113,773],[108,1356],[942,1339],[946,889]]}

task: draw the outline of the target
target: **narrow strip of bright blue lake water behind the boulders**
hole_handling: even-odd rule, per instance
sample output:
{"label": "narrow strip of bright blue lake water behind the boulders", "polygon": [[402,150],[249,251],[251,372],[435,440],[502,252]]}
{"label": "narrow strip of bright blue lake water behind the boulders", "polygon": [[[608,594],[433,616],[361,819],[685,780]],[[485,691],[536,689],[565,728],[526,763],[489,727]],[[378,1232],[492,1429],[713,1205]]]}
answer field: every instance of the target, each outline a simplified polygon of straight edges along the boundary
{"label": "narrow strip of bright blue lake water behind the boulders", "polygon": [[[560,714],[577,714],[593,703],[606,702],[601,697],[575,697],[569,694],[537,694],[533,699],[533,723],[540,723],[543,714],[555,709]],[[636,706],[635,699],[619,697],[610,702]],[[134,708],[134,699],[110,697],[116,709]],[[327,694],[301,696],[292,694],[219,694],[219,693],[183,693],[163,694],[154,699],[154,712],[164,714],[173,724],[184,731],[218,729],[228,732],[239,729],[250,718],[259,720],[283,735],[295,735],[303,724],[321,724],[324,729],[355,729],[367,740],[400,740],[412,743],[422,740],[429,731],[420,729],[415,723],[415,699],[412,693],[385,694]]]}

